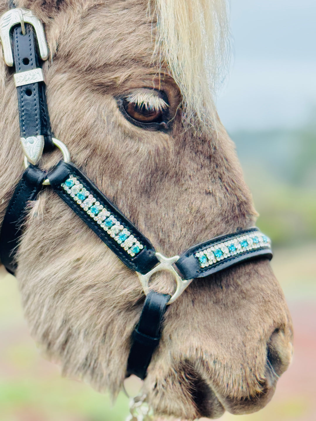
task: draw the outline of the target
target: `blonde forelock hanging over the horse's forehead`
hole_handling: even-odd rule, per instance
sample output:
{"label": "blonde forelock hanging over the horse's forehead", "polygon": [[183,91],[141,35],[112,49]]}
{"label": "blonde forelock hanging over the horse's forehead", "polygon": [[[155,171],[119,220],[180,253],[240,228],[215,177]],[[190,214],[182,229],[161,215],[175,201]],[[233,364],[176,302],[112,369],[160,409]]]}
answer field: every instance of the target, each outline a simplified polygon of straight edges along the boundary
{"label": "blonde forelock hanging over the horse's forehead", "polygon": [[227,0],[155,0],[155,7],[155,53],[179,85],[186,120],[216,128],[216,91],[230,62]]}

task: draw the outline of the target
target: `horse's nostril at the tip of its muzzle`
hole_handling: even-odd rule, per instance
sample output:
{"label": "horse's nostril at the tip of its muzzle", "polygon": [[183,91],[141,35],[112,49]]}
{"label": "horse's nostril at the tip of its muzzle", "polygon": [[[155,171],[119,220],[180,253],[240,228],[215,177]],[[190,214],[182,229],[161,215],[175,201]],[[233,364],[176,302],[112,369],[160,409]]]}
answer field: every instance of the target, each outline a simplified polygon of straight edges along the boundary
{"label": "horse's nostril at the tip of its muzzle", "polygon": [[[283,329],[276,329],[267,344],[268,372],[277,380],[287,370],[292,357],[292,346],[289,344]],[[272,372],[273,370],[273,372]]]}

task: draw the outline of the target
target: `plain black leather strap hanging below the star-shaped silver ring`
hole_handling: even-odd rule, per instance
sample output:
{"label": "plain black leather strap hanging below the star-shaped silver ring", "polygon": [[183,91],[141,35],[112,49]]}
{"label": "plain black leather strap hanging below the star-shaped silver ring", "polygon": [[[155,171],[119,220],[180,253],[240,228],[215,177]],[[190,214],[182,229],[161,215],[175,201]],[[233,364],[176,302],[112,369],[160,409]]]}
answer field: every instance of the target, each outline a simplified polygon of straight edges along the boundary
{"label": "plain black leather strap hanging below the star-shaped silver ring", "polygon": [[171,296],[150,291],[145,299],[142,314],[132,339],[127,362],[127,377],[135,374],[144,380],[153,352],[161,337],[163,316]]}

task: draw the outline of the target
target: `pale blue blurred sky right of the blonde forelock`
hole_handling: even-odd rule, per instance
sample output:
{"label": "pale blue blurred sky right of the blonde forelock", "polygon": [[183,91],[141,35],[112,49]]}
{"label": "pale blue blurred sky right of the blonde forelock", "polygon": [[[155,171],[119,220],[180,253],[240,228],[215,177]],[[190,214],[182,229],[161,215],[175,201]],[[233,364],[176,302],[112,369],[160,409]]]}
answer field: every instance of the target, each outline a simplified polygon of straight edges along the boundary
{"label": "pale blue blurred sky right of the blonde forelock", "polygon": [[231,29],[217,101],[228,132],[304,125],[316,108],[316,0],[231,0]]}

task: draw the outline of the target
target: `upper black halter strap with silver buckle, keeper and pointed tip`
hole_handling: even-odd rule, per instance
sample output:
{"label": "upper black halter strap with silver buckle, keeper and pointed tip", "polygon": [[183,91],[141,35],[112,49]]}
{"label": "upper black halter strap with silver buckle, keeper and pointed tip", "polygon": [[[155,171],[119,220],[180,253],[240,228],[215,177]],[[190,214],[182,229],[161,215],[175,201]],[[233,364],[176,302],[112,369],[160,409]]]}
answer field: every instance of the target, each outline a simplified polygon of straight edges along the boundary
{"label": "upper black halter strap with silver buckle, keeper and pointed tip", "polygon": [[[40,63],[48,58],[43,25],[31,11],[13,8],[1,16],[0,38],[5,62],[8,66],[14,65],[16,70],[14,82],[18,96],[21,145],[28,161],[35,165],[40,160],[43,148],[54,148],[46,87],[40,67]],[[39,46],[40,56],[37,54],[36,44]]]}

